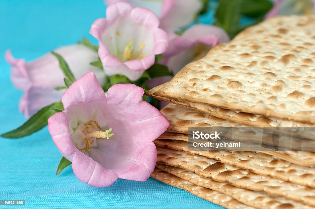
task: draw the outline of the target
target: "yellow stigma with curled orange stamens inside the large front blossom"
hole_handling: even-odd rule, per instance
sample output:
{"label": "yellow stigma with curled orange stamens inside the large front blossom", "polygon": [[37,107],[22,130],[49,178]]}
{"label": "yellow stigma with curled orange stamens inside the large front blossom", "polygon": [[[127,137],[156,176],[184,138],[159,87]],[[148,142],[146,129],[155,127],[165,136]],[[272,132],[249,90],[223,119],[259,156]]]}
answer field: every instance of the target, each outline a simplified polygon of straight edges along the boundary
{"label": "yellow stigma with curled orange stamens inside the large front blossom", "polygon": [[[97,131],[93,131],[93,129],[97,129]],[[85,147],[78,148],[80,151],[83,151],[84,154],[87,154],[90,151],[90,147],[94,141],[94,139],[90,139],[92,137],[95,138],[106,138],[109,139],[114,134],[111,134],[112,129],[107,129],[106,131],[102,131],[102,128],[98,124],[96,120],[89,120],[86,125],[82,129],[83,140],[85,140]]]}

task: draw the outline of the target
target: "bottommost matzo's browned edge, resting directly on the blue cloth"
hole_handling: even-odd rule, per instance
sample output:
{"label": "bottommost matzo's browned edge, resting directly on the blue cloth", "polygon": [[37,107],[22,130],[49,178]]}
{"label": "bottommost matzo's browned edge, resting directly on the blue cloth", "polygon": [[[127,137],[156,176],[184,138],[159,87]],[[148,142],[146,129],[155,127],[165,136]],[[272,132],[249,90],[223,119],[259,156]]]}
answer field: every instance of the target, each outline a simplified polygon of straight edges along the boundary
{"label": "bottommost matzo's browned edge, resting directly on the blue cloth", "polygon": [[171,186],[186,190],[187,192],[196,195],[197,197],[213,202],[222,207],[226,207],[228,209],[254,209],[253,207],[240,203],[231,196],[224,195],[205,187],[197,186],[170,173],[164,172],[158,168],[154,169],[151,177],[162,181],[165,184],[169,184]]}

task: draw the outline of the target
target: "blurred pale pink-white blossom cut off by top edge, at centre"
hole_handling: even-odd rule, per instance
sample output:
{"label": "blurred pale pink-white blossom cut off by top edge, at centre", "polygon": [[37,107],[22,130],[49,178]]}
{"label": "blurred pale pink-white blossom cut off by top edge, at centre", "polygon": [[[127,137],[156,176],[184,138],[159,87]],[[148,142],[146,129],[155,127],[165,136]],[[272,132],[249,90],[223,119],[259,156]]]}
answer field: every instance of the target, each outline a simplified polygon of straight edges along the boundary
{"label": "blurred pale pink-white blossom cut off by top edge, at centre", "polygon": [[199,0],[106,0],[105,3],[127,2],[133,7],[144,7],[160,19],[160,28],[169,35],[178,28],[189,25],[202,9]]}

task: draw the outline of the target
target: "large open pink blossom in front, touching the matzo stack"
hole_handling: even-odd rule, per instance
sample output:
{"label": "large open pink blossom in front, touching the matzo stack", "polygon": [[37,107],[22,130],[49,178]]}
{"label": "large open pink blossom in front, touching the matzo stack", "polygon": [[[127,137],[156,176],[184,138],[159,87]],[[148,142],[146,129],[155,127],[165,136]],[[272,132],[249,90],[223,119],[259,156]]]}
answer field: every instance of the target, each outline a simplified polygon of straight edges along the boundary
{"label": "large open pink blossom in front, touching the matzo stack", "polygon": [[157,158],[153,140],[169,121],[141,102],[143,92],[133,84],[116,84],[106,98],[92,72],[66,90],[61,99],[65,109],[49,118],[48,129],[79,180],[106,187],[117,178],[149,178]]}

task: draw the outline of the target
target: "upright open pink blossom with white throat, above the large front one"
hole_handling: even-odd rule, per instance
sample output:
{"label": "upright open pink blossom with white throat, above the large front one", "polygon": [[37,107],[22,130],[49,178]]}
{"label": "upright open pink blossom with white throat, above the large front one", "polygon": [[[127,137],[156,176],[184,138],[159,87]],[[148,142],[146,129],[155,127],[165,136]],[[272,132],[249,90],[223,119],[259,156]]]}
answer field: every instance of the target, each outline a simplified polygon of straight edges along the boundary
{"label": "upright open pink blossom with white throat, above the large front one", "polygon": [[106,9],[90,33],[99,41],[99,56],[108,75],[123,74],[137,80],[154,64],[155,55],[168,47],[168,36],[157,16],[145,8],[119,2]]}

